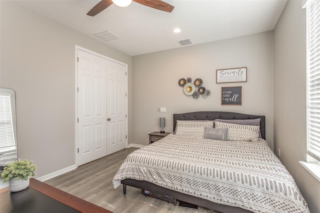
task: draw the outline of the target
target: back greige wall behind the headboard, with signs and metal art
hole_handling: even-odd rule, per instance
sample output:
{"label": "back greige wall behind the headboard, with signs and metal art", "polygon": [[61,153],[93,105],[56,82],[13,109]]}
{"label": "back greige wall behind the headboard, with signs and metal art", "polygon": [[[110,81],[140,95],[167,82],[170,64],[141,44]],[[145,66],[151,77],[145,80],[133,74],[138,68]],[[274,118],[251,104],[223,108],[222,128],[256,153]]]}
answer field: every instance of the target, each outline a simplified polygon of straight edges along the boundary
{"label": "back greige wall behind the headboard, with signs and metal art", "polygon": [[[216,83],[216,69],[247,66],[247,82]],[[273,147],[273,32],[133,56],[132,143],[146,144],[147,132],[159,130],[159,117],[172,131],[172,114],[235,111],[266,116],[266,140]],[[211,91],[206,99],[182,92],[180,78],[197,77]],[[221,105],[221,86],[242,86],[242,105]],[[166,107],[166,112],[158,112]]]}

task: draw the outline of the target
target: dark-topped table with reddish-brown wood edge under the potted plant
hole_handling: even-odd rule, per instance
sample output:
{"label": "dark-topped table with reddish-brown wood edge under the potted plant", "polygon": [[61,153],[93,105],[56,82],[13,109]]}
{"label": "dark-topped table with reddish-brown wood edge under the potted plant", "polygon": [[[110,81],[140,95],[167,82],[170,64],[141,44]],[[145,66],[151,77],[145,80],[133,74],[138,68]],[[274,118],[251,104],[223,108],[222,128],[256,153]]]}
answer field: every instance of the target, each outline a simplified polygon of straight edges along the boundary
{"label": "dark-topped table with reddish-brown wood edge under the potted plant", "polygon": [[18,192],[0,193],[0,212],[105,212],[95,205],[65,191],[30,178],[29,186]]}

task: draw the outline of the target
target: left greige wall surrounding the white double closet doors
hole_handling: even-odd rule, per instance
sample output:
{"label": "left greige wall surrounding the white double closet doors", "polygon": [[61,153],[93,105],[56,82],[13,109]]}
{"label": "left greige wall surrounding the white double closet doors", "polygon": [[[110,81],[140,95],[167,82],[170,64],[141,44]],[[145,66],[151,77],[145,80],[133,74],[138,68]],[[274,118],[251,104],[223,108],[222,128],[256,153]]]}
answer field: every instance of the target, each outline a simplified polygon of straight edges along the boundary
{"label": "left greige wall surrounding the white double closet doors", "polygon": [[39,177],[75,163],[75,45],[128,64],[129,114],[131,56],[15,2],[0,9],[0,86],[16,92],[18,156]]}

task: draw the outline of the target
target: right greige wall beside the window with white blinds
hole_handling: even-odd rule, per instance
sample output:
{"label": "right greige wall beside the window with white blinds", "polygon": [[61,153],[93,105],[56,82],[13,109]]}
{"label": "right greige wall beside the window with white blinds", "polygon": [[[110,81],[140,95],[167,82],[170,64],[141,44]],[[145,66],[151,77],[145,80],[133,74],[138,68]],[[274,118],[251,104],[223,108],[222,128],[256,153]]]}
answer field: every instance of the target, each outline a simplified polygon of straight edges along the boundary
{"label": "right greige wall beside the window with white blinds", "polygon": [[306,159],[306,19],[301,3],[289,0],[274,29],[274,150],[310,211],[320,212],[320,182],[298,163]]}

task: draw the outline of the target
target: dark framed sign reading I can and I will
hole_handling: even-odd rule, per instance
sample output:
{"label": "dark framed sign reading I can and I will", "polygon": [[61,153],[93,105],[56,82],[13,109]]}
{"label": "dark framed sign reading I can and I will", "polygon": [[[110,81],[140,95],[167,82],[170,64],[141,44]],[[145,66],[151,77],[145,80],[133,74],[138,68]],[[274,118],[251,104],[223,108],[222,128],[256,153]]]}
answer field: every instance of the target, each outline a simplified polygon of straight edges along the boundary
{"label": "dark framed sign reading I can and I will", "polygon": [[241,105],[242,86],[221,87],[221,105]]}

